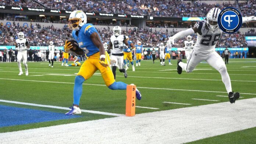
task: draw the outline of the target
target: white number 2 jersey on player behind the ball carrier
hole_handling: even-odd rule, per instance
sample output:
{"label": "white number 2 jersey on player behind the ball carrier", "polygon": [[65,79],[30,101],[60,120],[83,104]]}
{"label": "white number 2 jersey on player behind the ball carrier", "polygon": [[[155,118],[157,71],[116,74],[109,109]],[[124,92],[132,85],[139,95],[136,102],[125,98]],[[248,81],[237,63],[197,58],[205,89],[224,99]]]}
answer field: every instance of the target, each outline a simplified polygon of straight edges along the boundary
{"label": "white number 2 jersey on player behind the ball carrier", "polygon": [[113,54],[120,54],[124,53],[124,39],[126,39],[125,35],[119,35],[118,37],[115,37],[114,35],[110,37],[110,41],[113,45]]}

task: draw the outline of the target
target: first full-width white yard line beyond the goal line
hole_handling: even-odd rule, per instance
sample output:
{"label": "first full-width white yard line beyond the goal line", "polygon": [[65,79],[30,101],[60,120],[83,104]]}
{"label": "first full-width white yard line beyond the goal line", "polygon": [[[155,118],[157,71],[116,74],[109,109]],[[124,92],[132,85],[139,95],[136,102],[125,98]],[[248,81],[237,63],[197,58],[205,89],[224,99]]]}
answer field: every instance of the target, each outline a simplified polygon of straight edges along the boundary
{"label": "first full-width white yard line beyond the goal line", "polygon": [[[0,79],[4,79],[4,78],[0,78]],[[18,80],[18,81],[29,81],[29,82],[44,82],[44,83],[66,83],[66,84],[74,84],[74,83],[68,83],[68,82],[51,82],[51,81],[25,80],[25,79],[4,79],[4,80]],[[83,83],[83,85],[106,86],[106,85],[104,85],[104,84],[89,84],[89,83]],[[157,89],[157,90],[199,91],[199,92],[209,92],[209,93],[227,93],[227,92],[224,92],[224,91],[166,89],[166,88],[157,88],[157,87],[137,87],[137,88],[141,88],[141,89]],[[240,94],[251,94],[251,95],[256,95],[256,94],[252,94],[252,93],[240,93]]]}

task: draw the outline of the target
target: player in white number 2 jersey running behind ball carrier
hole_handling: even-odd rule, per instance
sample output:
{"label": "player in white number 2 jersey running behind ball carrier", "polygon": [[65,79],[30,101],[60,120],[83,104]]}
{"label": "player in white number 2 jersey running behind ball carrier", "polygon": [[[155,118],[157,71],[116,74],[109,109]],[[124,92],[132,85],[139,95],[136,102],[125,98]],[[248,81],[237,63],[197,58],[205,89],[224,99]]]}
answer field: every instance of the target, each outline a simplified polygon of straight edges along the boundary
{"label": "player in white number 2 jersey running behind ball carrier", "polygon": [[[127,42],[125,35],[121,35],[121,32],[122,32],[122,29],[120,26],[115,26],[113,28],[114,35],[110,37],[109,48],[108,48],[109,51],[112,49],[110,59],[112,61],[115,61],[114,63],[111,62],[114,78],[115,78],[115,71],[117,67],[120,72],[124,73],[124,77],[127,78],[127,72],[124,69],[123,64],[124,64],[124,48],[129,47],[129,44]],[[124,44],[127,47],[124,47]]]}

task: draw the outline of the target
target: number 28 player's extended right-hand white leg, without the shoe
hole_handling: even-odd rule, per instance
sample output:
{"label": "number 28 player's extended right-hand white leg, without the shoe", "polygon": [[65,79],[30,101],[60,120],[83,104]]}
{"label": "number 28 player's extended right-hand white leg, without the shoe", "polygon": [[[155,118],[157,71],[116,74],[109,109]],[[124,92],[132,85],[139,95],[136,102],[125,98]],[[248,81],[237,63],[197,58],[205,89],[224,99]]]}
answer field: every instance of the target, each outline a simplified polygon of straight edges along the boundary
{"label": "number 28 player's extended right-hand white leg, without the shoe", "polygon": [[215,51],[207,56],[206,62],[220,72],[221,79],[225,84],[227,93],[232,92],[230,76],[228,75],[227,67],[225,62],[222,60],[220,55]]}

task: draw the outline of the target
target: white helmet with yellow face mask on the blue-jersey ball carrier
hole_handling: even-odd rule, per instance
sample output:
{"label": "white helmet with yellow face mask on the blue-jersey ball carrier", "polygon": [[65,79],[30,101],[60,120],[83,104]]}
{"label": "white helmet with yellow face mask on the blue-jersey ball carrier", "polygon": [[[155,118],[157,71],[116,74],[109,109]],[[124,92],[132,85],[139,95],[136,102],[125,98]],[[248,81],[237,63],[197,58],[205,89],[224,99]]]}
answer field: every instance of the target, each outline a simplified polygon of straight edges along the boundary
{"label": "white helmet with yellow face mask on the blue-jersey ball carrier", "polygon": [[72,11],[68,19],[68,28],[78,31],[86,22],[87,17],[83,11]]}

